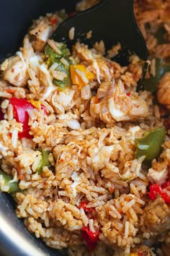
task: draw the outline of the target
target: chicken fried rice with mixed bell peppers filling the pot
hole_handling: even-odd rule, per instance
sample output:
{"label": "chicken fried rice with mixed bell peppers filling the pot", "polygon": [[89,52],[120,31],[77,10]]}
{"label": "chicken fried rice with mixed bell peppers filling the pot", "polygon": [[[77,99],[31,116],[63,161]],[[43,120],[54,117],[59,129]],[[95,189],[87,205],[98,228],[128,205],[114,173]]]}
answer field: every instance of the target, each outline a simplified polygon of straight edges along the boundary
{"label": "chicken fried rice with mixed bell peppers filling the pot", "polygon": [[134,8],[154,91],[138,88],[138,56],[128,67],[111,60],[120,44],[69,53],[50,40],[64,11],[35,20],[1,64],[1,191],[30,232],[68,255],[169,255],[170,68],[157,72],[169,64],[170,3]]}

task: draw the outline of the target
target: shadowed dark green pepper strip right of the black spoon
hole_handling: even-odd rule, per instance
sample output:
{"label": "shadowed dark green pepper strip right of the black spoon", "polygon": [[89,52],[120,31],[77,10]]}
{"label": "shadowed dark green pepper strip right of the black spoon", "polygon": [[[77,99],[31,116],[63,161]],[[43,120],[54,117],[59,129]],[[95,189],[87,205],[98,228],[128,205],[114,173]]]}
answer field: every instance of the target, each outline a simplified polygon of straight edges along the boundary
{"label": "shadowed dark green pepper strip right of the black spoon", "polygon": [[170,71],[170,62],[165,62],[163,59],[156,59],[156,75],[153,77],[151,74],[150,77],[144,80],[144,87],[146,90],[151,93],[156,92],[157,85],[161,77],[164,76],[166,72]]}

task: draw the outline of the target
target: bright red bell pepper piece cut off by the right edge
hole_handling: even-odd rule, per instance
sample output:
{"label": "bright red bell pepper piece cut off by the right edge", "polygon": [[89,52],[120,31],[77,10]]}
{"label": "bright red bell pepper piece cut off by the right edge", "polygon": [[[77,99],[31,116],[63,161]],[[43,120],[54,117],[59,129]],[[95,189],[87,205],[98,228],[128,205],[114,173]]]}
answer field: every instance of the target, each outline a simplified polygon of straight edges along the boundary
{"label": "bright red bell pepper piece cut off by the right edge", "polygon": [[170,203],[170,179],[168,179],[164,184],[161,186],[158,184],[152,184],[149,187],[148,197],[151,198],[151,200],[156,200],[158,195],[164,199],[166,203]]}

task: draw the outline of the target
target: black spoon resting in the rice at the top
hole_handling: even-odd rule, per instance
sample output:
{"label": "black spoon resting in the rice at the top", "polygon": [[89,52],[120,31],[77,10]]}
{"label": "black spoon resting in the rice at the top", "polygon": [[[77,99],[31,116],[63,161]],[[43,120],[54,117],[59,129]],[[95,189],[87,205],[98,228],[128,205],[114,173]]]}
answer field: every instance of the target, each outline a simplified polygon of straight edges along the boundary
{"label": "black spoon resting in the rice at the top", "polygon": [[[73,40],[68,36],[71,27],[75,29]],[[87,39],[86,33],[90,30],[92,36]],[[124,50],[122,56],[117,59],[118,62],[121,62],[121,58],[126,59],[128,51],[125,49],[134,52],[140,59],[145,61],[148,59],[146,41],[135,21],[133,0],[103,0],[59,25],[52,39],[66,42],[69,48],[77,40],[89,46],[103,40],[107,49],[120,42]]]}

